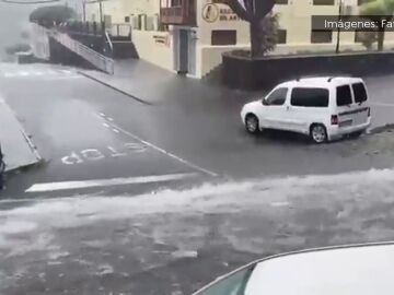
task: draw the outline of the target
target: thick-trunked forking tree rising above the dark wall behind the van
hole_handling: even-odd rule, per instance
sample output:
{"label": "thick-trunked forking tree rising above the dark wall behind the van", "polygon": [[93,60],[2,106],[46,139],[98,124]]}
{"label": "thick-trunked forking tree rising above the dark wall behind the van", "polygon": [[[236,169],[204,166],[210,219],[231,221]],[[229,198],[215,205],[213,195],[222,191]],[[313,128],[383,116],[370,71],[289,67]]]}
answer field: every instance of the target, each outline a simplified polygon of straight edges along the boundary
{"label": "thick-trunked forking tree rising above the dark wall behind the van", "polygon": [[224,0],[242,20],[250,23],[251,27],[251,56],[263,56],[265,38],[265,17],[273,11],[275,0]]}

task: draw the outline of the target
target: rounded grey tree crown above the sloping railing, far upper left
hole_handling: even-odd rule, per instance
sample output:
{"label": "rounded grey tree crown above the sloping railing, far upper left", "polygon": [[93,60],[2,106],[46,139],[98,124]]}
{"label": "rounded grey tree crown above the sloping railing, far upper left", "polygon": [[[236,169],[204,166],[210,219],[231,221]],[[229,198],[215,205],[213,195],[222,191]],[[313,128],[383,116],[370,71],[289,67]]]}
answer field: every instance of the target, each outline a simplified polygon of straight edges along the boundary
{"label": "rounded grey tree crown above the sloping railing, far upper left", "polygon": [[35,9],[31,15],[30,21],[40,23],[46,27],[54,24],[67,22],[77,16],[73,9],[63,5],[50,5]]}

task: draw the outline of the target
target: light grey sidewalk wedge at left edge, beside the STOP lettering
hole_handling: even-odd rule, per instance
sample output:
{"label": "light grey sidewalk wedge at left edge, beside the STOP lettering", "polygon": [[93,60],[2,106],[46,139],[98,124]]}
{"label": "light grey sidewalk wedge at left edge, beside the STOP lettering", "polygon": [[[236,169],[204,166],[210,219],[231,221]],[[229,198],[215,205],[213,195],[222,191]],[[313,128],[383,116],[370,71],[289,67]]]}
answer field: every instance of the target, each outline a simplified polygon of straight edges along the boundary
{"label": "light grey sidewalk wedge at left edge, beside the STOP lettering", "polygon": [[5,172],[37,164],[42,158],[9,105],[0,97],[0,143]]}

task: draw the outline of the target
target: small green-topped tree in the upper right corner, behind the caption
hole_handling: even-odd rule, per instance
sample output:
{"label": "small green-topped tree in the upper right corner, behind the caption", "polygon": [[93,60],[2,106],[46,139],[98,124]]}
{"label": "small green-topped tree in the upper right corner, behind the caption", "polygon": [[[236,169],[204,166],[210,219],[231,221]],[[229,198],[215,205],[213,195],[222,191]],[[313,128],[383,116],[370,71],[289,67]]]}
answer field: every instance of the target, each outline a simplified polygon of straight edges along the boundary
{"label": "small green-topped tree in the upper right corner, behind the caption", "polygon": [[360,15],[367,16],[378,26],[378,50],[383,50],[385,24],[393,20],[394,0],[367,0],[360,8]]}

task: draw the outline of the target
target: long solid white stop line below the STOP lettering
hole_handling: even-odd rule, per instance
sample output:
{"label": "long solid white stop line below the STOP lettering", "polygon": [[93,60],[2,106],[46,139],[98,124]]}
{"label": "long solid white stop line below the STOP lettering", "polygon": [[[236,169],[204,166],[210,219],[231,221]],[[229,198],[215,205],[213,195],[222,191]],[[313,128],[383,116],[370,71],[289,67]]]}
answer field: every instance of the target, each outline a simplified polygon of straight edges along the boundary
{"label": "long solid white stop line below the STOP lettering", "polygon": [[31,186],[26,190],[26,192],[44,192],[44,191],[70,190],[70,189],[82,189],[82,188],[94,188],[94,187],[165,182],[171,180],[192,178],[196,176],[198,176],[198,174],[188,173],[188,174],[169,174],[169,175],[159,175],[159,176],[153,175],[153,176],[128,177],[128,178],[96,179],[96,180],[85,180],[85,181],[35,184]]}

